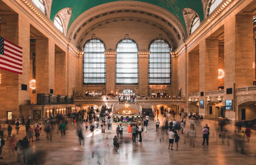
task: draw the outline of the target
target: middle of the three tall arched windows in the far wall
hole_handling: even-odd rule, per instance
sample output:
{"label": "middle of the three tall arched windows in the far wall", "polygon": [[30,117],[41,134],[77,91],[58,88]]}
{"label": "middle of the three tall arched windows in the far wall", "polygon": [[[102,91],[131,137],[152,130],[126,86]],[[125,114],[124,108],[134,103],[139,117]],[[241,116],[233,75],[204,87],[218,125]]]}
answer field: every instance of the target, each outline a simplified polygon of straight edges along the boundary
{"label": "middle of the three tall arched windows in the far wall", "polygon": [[138,45],[130,38],[125,38],[117,44],[116,78],[117,85],[138,85]]}

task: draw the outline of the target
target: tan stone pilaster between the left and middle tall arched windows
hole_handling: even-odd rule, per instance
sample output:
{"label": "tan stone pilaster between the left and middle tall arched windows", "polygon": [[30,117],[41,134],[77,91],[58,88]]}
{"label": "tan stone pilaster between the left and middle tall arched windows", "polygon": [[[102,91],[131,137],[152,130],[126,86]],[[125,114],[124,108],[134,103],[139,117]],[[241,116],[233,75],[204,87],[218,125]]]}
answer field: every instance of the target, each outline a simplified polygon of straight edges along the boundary
{"label": "tan stone pilaster between the left and middle tall arched windows", "polygon": [[115,55],[117,51],[106,50],[106,93],[115,93]]}

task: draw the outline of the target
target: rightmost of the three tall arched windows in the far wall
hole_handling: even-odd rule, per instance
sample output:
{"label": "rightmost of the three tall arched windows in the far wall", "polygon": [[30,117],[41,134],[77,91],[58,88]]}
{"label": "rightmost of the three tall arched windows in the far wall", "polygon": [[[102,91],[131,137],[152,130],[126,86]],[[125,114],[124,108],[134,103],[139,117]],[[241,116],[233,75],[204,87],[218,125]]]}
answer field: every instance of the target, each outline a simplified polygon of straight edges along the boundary
{"label": "rightmost of the three tall arched windows in the far wall", "polygon": [[149,45],[148,84],[171,84],[170,44],[162,38]]}

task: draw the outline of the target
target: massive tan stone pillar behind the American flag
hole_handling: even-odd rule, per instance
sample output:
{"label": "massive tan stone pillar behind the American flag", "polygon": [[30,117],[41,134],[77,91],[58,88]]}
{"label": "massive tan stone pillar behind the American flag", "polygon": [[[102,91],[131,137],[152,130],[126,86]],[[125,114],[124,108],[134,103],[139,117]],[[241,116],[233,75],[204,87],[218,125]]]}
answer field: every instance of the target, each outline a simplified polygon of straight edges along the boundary
{"label": "massive tan stone pillar behind the American flag", "polygon": [[[0,118],[6,119],[6,111],[18,118],[19,105],[29,103],[30,24],[18,14],[2,13],[1,37],[22,47],[22,75],[1,69],[0,84]],[[27,85],[27,90],[21,90],[21,84]]]}

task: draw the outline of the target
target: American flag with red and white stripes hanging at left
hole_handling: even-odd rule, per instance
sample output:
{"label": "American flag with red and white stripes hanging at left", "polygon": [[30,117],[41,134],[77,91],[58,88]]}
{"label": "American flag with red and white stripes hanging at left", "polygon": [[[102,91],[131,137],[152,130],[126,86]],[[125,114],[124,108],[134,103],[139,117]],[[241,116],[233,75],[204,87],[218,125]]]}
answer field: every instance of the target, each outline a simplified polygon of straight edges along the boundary
{"label": "American flag with red and white stripes hanging at left", "polygon": [[22,74],[22,48],[0,37],[0,69]]}

